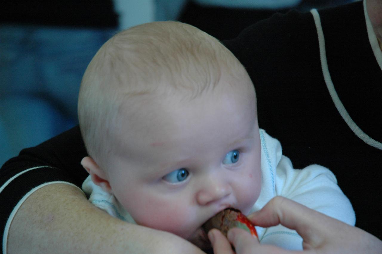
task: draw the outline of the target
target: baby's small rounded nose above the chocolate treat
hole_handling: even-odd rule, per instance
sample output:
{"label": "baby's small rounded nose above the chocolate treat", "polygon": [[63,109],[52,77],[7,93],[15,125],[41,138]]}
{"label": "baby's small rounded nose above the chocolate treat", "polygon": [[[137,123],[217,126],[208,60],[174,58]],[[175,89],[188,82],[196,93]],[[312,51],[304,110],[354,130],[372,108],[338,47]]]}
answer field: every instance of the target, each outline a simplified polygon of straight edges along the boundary
{"label": "baby's small rounded nose above the chocolate treat", "polygon": [[219,181],[211,181],[202,188],[196,196],[199,205],[207,205],[219,201],[232,193],[231,185]]}

